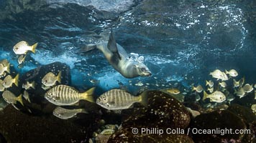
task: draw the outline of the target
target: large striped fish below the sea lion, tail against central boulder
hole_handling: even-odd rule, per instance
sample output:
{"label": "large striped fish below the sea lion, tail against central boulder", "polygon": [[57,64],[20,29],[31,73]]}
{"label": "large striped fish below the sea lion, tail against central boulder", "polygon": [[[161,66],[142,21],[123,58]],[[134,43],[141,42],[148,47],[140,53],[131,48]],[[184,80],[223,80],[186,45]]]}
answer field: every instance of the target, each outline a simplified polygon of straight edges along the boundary
{"label": "large striped fish below the sea lion, tail against central boulder", "polygon": [[96,99],[96,104],[106,109],[128,109],[132,107],[135,102],[140,102],[141,104],[147,106],[147,94],[143,92],[140,96],[133,96],[128,92],[121,89],[112,89],[109,92],[101,94],[101,96]]}

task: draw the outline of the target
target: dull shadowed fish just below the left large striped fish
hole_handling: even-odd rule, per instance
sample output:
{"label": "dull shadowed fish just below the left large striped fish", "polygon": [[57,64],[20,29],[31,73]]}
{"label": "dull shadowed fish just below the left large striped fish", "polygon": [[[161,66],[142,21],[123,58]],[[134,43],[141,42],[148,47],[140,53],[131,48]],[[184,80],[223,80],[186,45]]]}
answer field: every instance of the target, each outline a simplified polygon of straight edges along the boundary
{"label": "dull shadowed fish just below the left large striped fish", "polygon": [[70,119],[72,117],[75,117],[78,113],[88,114],[86,109],[65,109],[63,107],[56,107],[52,112],[55,117],[58,117],[60,119]]}

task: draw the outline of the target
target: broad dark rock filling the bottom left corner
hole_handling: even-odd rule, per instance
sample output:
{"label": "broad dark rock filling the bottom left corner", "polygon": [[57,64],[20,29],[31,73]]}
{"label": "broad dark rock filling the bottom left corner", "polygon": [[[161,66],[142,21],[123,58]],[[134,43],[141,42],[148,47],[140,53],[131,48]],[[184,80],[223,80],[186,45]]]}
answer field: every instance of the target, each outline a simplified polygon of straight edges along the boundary
{"label": "broad dark rock filling the bottom left corner", "polygon": [[81,142],[95,127],[94,117],[88,116],[75,124],[54,116],[34,117],[9,105],[0,114],[0,134],[7,142]]}

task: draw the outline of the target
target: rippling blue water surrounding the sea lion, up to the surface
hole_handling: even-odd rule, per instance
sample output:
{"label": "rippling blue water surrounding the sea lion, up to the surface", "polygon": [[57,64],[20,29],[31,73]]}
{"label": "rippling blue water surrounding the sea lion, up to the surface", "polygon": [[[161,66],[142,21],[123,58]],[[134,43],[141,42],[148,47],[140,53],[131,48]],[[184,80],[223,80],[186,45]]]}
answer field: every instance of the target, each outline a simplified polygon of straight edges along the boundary
{"label": "rippling blue water surrounding the sea lion, up to the surface", "polygon": [[[0,7],[8,5],[0,2]],[[9,59],[21,73],[62,61],[71,68],[73,85],[104,91],[120,85],[130,92],[191,88],[211,79],[209,72],[214,69],[236,69],[237,79],[244,76],[247,83],[255,83],[253,1],[124,2],[47,1],[32,3],[32,8],[18,4],[20,10],[12,12],[7,9],[1,12],[1,59]],[[125,79],[100,51],[77,52],[86,44],[107,41],[111,29],[128,53],[145,56],[152,77]],[[39,45],[19,69],[12,47],[22,40]],[[138,82],[143,86],[134,86]]]}

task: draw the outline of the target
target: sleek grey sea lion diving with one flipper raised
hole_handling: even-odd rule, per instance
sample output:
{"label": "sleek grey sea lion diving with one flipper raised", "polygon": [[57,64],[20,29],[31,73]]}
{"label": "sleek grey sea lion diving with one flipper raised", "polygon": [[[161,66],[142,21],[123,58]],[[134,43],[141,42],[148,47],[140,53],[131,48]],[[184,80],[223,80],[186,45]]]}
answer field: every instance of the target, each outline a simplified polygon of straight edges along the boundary
{"label": "sleek grey sea lion diving with one flipper raised", "polygon": [[150,70],[142,62],[131,60],[124,48],[116,44],[114,34],[111,32],[108,42],[99,44],[91,44],[82,51],[90,51],[91,49],[99,49],[103,52],[106,59],[109,61],[116,71],[119,71],[126,78],[134,77],[149,77]]}

